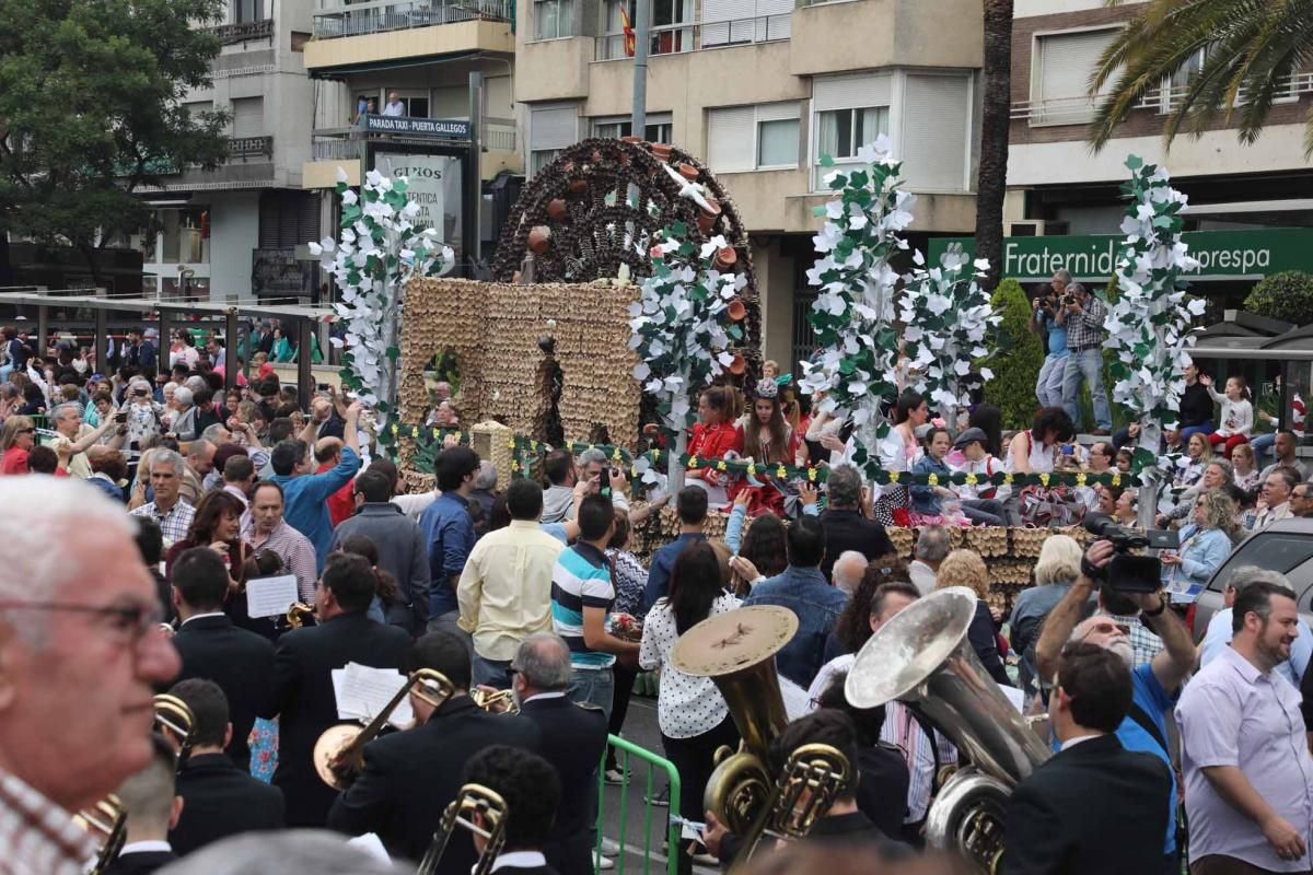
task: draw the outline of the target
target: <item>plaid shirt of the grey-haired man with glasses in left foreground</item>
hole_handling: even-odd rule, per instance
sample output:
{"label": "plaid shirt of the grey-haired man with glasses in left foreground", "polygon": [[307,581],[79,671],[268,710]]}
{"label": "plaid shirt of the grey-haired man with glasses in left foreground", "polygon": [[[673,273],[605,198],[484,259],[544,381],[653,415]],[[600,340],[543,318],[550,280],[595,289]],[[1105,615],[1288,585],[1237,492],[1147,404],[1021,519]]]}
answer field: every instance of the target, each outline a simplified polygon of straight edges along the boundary
{"label": "plaid shirt of the grey-haired man with glasses in left foreground", "polygon": [[0,771],[0,871],[81,875],[95,857],[95,840],[67,811]]}

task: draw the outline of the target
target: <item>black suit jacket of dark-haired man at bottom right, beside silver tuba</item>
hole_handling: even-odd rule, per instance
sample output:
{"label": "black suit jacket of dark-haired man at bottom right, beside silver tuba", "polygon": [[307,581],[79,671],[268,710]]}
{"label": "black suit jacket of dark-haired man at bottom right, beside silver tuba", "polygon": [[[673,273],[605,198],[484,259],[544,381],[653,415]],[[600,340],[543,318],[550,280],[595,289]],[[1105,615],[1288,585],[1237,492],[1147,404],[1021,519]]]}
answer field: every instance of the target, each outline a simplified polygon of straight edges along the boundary
{"label": "black suit jacket of dark-haired man at bottom right, beside silver tuba", "polygon": [[1115,735],[1061,750],[1012,791],[999,872],[1161,871],[1170,792],[1162,760]]}

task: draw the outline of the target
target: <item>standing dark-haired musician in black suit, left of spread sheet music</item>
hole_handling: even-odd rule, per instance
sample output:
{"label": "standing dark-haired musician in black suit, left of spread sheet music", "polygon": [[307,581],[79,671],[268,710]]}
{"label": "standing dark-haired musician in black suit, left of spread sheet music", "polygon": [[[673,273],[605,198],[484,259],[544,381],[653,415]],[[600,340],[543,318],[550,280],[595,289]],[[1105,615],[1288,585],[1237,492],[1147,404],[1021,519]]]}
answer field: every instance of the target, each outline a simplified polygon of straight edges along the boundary
{"label": "standing dark-haired musician in black suit, left of spread sheet music", "polygon": [[259,716],[278,722],[278,767],[273,783],[288,803],[289,826],[323,826],[336,791],[314,767],[315,741],[340,723],[332,670],[347,662],[400,669],[410,634],[369,619],[378,575],[364,556],[334,554],[315,586],[319,626],[291,630],[278,639],[273,693]]}

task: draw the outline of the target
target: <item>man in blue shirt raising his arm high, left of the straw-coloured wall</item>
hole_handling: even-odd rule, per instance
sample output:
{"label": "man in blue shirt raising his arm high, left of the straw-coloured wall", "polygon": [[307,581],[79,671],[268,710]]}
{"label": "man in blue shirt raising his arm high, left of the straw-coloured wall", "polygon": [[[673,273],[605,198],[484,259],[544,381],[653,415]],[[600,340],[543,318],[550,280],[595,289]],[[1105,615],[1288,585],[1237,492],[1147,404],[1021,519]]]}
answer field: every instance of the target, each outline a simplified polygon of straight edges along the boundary
{"label": "man in blue shirt raising his arm high, left of the straw-coloured wall", "polygon": [[[281,441],[273,447],[269,457],[269,464],[273,467],[270,480],[282,487],[285,501],[282,518],[315,546],[316,572],[323,571],[324,563],[328,560],[328,548],[332,546],[328,496],[351,483],[351,479],[360,471],[360,437],[356,433],[360,409],[360,401],[355,401],[347,408],[341,460],[336,467],[323,474],[311,474],[315,460],[310,454],[309,443],[303,439]],[[314,441],[312,428],[310,429],[310,441]]]}

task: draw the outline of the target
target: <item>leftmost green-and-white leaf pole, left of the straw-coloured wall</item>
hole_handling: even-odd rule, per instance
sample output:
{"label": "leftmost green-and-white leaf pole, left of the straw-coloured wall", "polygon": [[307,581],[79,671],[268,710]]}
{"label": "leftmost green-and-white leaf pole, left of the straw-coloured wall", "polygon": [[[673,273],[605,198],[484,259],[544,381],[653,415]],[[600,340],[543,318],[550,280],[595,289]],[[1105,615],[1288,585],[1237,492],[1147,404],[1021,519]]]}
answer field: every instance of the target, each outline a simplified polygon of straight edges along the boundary
{"label": "leftmost green-and-white leaf pole, left of the straw-coloured wall", "polygon": [[407,201],[406,189],[406,177],[390,180],[370,171],[357,195],[339,168],[341,232],[337,240],[324,237],[310,244],[311,254],[319,256],[340,291],[334,310],[347,335],[345,340],[334,337],[332,344],[345,348],[343,386],[377,411],[379,442],[387,446],[395,442],[395,429],[383,425],[397,405],[406,281],[442,275],[454,264],[450,247],[437,239],[437,231],[415,226],[420,206]]}

